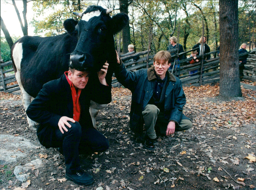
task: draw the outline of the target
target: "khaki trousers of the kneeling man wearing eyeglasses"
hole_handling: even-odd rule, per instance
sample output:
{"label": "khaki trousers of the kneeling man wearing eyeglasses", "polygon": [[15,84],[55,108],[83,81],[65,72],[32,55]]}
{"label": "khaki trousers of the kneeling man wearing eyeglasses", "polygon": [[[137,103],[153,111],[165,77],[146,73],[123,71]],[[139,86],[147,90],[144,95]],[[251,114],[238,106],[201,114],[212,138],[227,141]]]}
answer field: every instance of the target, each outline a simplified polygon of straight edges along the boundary
{"label": "khaki trousers of the kneeling man wearing eyeglasses", "polygon": [[[160,112],[157,106],[148,104],[142,111],[146,133],[149,138],[155,139],[156,135],[165,135],[169,121],[164,118],[164,113]],[[175,122],[176,123],[176,122]],[[192,127],[192,122],[182,119],[176,123],[175,131],[184,131]]]}

